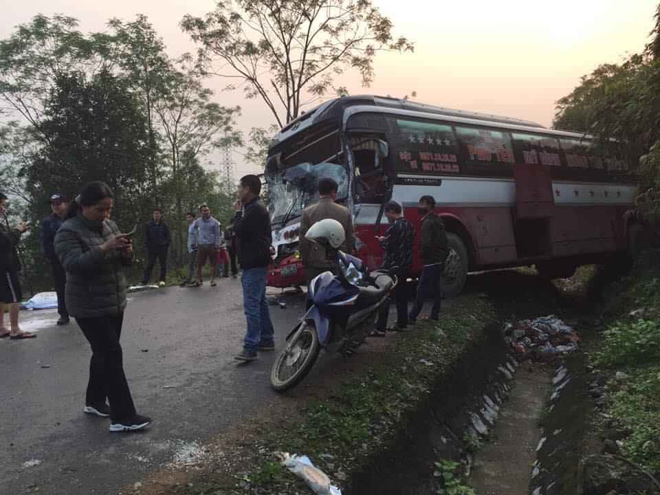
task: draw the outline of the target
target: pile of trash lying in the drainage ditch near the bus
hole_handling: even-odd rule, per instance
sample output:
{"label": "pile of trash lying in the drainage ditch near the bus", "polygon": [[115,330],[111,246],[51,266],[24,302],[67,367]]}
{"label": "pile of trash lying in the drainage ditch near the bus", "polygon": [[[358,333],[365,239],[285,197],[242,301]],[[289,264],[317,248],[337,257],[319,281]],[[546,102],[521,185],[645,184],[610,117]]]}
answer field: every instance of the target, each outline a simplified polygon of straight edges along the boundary
{"label": "pile of trash lying in the drainage ditch near the bus", "polygon": [[554,315],[507,323],[504,338],[519,358],[538,360],[577,351],[580,342],[573,327]]}

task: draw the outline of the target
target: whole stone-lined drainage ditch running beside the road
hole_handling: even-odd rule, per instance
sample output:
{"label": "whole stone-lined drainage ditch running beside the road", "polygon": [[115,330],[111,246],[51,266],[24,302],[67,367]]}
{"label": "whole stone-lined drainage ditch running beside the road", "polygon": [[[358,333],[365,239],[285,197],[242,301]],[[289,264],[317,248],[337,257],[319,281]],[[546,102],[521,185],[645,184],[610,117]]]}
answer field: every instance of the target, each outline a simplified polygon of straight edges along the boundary
{"label": "whole stone-lined drainage ditch running beside the road", "polygon": [[[528,373],[529,368],[519,368],[502,338],[500,325],[489,325],[482,337],[456,360],[454,368],[443,375],[422,406],[402,419],[404,427],[396,441],[353,476],[344,494],[436,494],[440,485],[434,476],[434,463],[441,460],[461,461],[468,475],[476,466],[476,476],[483,470],[483,450],[498,441],[492,438],[498,417],[503,411],[509,415],[503,421],[513,422],[509,429],[515,436],[516,415],[524,408],[529,409],[524,412],[531,418],[529,430],[533,430],[531,436],[538,438],[538,443],[534,441],[531,453],[522,457],[519,464],[515,454],[511,459],[500,459],[504,481],[493,485],[496,490],[483,492],[475,485],[476,494],[582,493],[580,445],[592,404],[585,384],[584,356],[569,355],[552,377],[544,366],[534,368],[533,373]],[[518,393],[516,390],[511,394],[514,382],[522,388],[538,384],[536,400],[527,401],[523,393],[521,397],[512,397],[514,404],[509,404],[507,397]],[[507,412],[511,406],[516,410]],[[516,439],[512,442],[514,452]],[[519,474],[518,483],[507,485],[513,472]]]}

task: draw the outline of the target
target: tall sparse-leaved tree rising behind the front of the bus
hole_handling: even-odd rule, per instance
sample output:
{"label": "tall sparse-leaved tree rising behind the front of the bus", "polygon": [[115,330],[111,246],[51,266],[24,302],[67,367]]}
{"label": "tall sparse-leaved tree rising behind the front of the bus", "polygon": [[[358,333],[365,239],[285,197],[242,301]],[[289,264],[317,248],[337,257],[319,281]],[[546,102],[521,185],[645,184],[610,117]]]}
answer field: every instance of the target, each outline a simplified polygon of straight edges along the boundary
{"label": "tall sparse-leaved tree rising behind the front of the bus", "polygon": [[413,48],[394,38],[372,0],[226,0],[203,19],[184,17],[181,27],[208,61],[223,64],[209,70],[241,80],[245,96],[261,98],[279,127],[331,91],[344,70],[358,70],[369,86],[377,52]]}

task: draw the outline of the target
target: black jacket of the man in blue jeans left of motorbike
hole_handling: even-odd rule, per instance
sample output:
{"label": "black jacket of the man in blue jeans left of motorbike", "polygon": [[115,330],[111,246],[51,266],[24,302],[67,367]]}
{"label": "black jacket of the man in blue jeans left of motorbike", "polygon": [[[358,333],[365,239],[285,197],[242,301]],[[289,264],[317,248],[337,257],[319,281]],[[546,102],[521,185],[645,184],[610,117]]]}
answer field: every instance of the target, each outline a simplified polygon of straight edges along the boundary
{"label": "black jacket of the man in blue jeans left of motorbike", "polygon": [[270,265],[270,215],[259,197],[246,204],[243,212],[237,212],[232,230],[239,241],[239,263],[244,270]]}

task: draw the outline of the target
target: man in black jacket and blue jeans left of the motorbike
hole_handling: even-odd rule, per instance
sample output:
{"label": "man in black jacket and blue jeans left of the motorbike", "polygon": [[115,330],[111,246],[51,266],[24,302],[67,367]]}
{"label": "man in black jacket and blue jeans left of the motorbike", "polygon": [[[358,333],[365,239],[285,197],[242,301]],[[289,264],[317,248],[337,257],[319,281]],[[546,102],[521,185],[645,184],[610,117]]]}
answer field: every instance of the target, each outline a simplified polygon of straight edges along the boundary
{"label": "man in black jacket and blue jeans left of the motorbike", "polygon": [[261,181],[256,175],[245,175],[239,184],[239,199],[234,204],[233,231],[239,239],[239,263],[243,270],[243,307],[248,331],[243,351],[236,355],[239,361],[253,361],[257,351],[275,349],[273,323],[266,301],[266,276],[271,263],[272,233],[270,216],[259,193]]}

